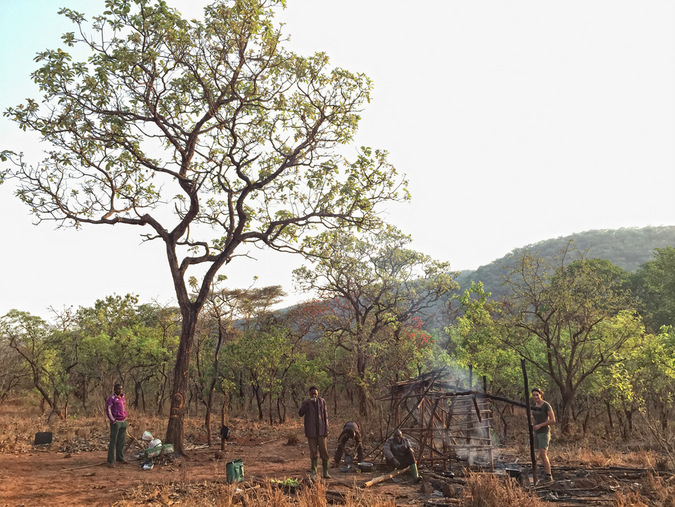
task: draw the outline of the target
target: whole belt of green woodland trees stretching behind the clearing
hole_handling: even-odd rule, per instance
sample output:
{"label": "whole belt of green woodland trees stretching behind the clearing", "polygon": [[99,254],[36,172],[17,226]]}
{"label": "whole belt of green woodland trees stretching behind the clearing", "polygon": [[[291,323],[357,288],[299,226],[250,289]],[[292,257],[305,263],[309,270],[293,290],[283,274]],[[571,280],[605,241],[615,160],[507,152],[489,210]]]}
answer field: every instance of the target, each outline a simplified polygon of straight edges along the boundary
{"label": "whole belt of green woodland trees stretching behind the clearing", "polygon": [[[628,438],[637,414],[661,434],[669,428],[675,248],[657,248],[634,273],[572,242],[550,257],[522,252],[505,272],[508,294],[494,298],[480,282],[458,293],[449,266],[409,242],[391,227],[326,233],[295,273],[319,297],[284,310],[280,287],[214,282],[195,333],[188,413],[204,417],[209,436],[232,411],[284,422],[317,384],[334,411],[351,405],[367,418],[391,383],[441,366],[470,366],[493,393],[522,399],[524,358],[564,433],[602,421]],[[131,408],[166,415],[179,330],[177,308],[131,295],[51,322],[12,310],[0,319],[0,397],[32,391],[50,417],[67,418],[101,411],[121,380]],[[495,407],[502,437],[505,410]]]}

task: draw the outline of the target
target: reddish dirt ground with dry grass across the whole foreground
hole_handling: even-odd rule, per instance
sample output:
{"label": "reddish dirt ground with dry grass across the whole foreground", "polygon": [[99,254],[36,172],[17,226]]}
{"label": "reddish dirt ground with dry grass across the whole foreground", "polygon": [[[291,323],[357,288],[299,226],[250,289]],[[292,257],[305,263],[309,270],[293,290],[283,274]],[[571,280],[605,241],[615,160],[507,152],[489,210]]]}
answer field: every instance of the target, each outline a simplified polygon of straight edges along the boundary
{"label": "reddish dirt ground with dry grass across the whole foreground", "polygon": [[[160,457],[154,460],[151,470],[143,470],[141,463],[145,459],[140,456],[142,449],[136,444],[127,450],[129,464],[115,468],[106,466],[107,434],[101,418],[52,421],[46,425],[44,419],[28,417],[13,408],[8,404],[0,407],[3,425],[0,432],[0,507],[231,505],[242,503],[236,501],[241,500],[242,495],[237,497],[235,488],[249,492],[263,483],[262,490],[266,479],[303,481],[308,476],[309,451],[299,419],[282,427],[233,420],[233,437],[227,442],[224,455],[219,453],[219,442],[206,446],[201,422],[195,420],[186,426],[189,458]],[[140,437],[147,429],[162,435],[164,427],[163,419],[146,418],[136,420],[130,433]],[[53,432],[52,444],[33,445],[35,432],[46,430]],[[329,436],[329,451],[335,449],[336,438],[337,435]],[[367,450],[369,440],[373,442],[374,435],[366,441]],[[528,498],[544,504],[675,505],[675,476],[661,466],[659,460],[662,457],[650,449],[621,449],[616,443],[608,443],[600,449],[599,443],[597,439],[588,443],[556,441],[551,451],[556,481],[538,486],[528,481],[521,481],[521,485],[508,478],[507,468],[519,469],[524,472],[523,477],[531,477],[527,465],[529,450],[521,445],[495,450],[498,481],[483,481],[480,484],[482,492],[476,488],[476,481],[464,476],[466,464],[461,461],[452,464],[456,475],[453,479],[447,479],[438,469],[422,466],[420,471],[424,480],[420,484],[402,476],[400,482],[389,480],[363,488],[366,481],[385,472],[378,457],[370,459],[376,464],[372,472],[331,468],[332,478],[312,486],[312,491],[321,489],[322,497],[325,493],[328,502],[337,503],[343,503],[339,501],[340,495],[342,499],[361,495],[360,500],[347,502],[350,506],[478,505],[468,499],[494,493],[499,489],[498,483],[508,482],[529,495]],[[234,459],[243,461],[244,481],[228,486],[226,464]],[[657,473],[655,469],[660,471]],[[495,476],[489,477],[495,479]],[[269,483],[266,484],[269,488]],[[441,493],[443,489],[446,493],[449,490],[447,496]],[[299,495],[295,493],[288,492],[282,503],[256,503],[255,497],[250,495],[246,505],[326,503],[297,502]],[[373,495],[379,503],[369,500]],[[497,500],[481,505],[500,503]],[[535,504],[520,500],[514,503],[511,499],[510,505]]]}

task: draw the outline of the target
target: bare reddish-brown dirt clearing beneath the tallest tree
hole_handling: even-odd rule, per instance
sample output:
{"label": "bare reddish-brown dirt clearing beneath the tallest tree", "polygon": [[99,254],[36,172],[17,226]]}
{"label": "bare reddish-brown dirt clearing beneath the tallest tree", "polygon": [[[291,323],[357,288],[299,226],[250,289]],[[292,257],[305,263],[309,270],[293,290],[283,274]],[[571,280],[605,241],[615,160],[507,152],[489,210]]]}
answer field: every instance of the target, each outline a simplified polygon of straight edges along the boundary
{"label": "bare reddish-brown dirt clearing beneath the tallest tree", "polygon": [[[188,483],[226,483],[226,463],[232,459],[243,461],[246,483],[263,478],[307,477],[306,443],[287,444],[285,438],[228,443],[225,457],[220,459],[216,457],[218,445],[193,448],[189,451],[189,459],[168,461],[159,458],[151,470],[141,469],[145,460],[132,458],[133,449],[125,456],[130,458],[130,463],[118,464],[115,468],[106,466],[104,451],[64,453],[45,449],[0,454],[0,505],[113,505],[130,498],[139,487],[152,490],[153,486],[161,484],[175,485],[176,492],[169,503],[180,503],[181,490],[186,491],[184,486]],[[345,473],[337,468],[331,468],[330,472],[333,478],[327,480],[326,485],[336,490],[348,490],[354,483],[361,484],[378,473]],[[388,489],[394,491],[388,493]],[[378,494],[395,495],[404,502],[397,502],[397,505],[405,505],[408,500],[419,504],[418,489],[405,478],[398,484],[380,486]]]}

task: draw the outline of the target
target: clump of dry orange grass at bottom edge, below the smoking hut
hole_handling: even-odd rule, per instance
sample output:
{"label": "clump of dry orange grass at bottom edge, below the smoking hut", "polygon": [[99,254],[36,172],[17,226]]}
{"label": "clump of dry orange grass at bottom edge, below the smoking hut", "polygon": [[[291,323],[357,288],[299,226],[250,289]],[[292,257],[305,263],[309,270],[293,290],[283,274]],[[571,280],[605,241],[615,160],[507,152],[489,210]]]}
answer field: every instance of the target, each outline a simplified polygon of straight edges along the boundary
{"label": "clump of dry orange grass at bottom edge, below the smoking hut", "polygon": [[508,477],[471,473],[462,495],[465,507],[538,507],[545,505]]}

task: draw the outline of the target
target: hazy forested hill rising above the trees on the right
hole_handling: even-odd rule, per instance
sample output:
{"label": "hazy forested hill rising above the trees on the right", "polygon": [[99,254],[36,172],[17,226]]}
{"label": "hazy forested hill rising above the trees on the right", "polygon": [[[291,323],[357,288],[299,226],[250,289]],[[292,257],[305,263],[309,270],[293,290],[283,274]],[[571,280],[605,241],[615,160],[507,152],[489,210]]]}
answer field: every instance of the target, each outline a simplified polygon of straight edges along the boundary
{"label": "hazy forested hill rising above the trees on the right", "polygon": [[569,240],[573,240],[574,247],[585,252],[587,258],[607,259],[630,272],[650,260],[655,248],[675,247],[675,226],[586,231],[517,248],[501,259],[476,270],[462,271],[457,278],[460,284],[459,293],[469,288],[472,281],[481,281],[485,290],[492,292],[494,297],[499,297],[504,293],[502,277],[505,267],[512,259],[525,251],[537,253],[542,257],[552,257]]}

